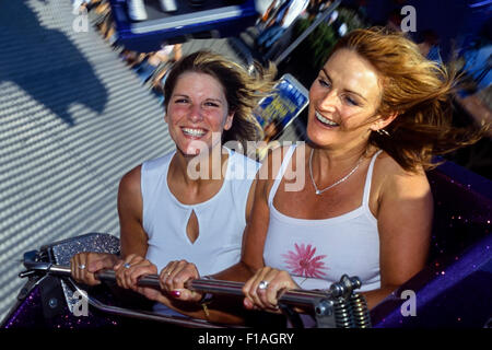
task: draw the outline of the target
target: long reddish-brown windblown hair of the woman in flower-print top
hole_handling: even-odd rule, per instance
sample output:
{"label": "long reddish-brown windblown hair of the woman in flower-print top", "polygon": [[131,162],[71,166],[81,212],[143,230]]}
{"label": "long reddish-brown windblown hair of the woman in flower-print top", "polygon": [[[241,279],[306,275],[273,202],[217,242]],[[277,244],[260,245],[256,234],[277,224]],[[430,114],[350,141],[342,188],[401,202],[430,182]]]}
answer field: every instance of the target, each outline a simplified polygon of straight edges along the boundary
{"label": "long reddish-brown windblown hair of the woman in flower-print top", "polygon": [[453,126],[457,77],[444,65],[425,59],[403,33],[373,27],[355,30],[335,46],[358,52],[379,72],[383,96],[378,114],[398,116],[385,130],[372,132],[370,144],[386,151],[407,171],[432,168],[433,155],[476,142],[483,131]]}

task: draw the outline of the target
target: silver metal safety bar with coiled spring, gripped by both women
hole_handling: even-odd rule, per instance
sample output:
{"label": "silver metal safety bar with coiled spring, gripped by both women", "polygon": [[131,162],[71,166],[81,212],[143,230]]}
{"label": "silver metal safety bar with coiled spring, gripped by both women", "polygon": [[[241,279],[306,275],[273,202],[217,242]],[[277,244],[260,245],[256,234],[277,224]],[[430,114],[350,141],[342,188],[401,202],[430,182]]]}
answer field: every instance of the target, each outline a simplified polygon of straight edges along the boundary
{"label": "silver metal safety bar with coiled spring, gripped by both women", "polygon": [[[71,270],[68,266],[55,265],[51,262],[38,261],[37,252],[27,252],[24,254],[24,266],[27,271],[21,272],[21,277],[30,276],[32,273],[42,272],[46,275],[55,275],[60,277],[70,277]],[[95,272],[95,278],[101,281],[115,282],[116,275],[114,270],[102,270]],[[79,287],[70,279],[72,287],[80,291]],[[157,275],[142,276],[138,280],[140,287],[151,287],[160,289],[160,279]],[[231,296],[244,296],[244,283],[235,281],[215,280],[210,278],[201,278],[189,280],[185,283],[189,290],[222,294]],[[288,311],[290,306],[312,307],[314,310],[315,318],[318,327],[370,327],[368,313],[365,305],[365,300],[362,295],[354,294],[354,290],[361,287],[361,281],[358,277],[342,276],[340,282],[332,283],[328,290],[289,290],[283,292],[279,298],[279,306],[289,317]],[[85,294],[86,293],[82,293]],[[212,324],[201,320],[186,319],[180,317],[163,316],[153,313],[136,312],[121,307],[104,305],[97,300],[86,296],[89,303],[104,312],[118,314],[122,316],[140,317],[145,319],[155,319],[161,322],[168,322],[178,325],[209,327]],[[354,307],[351,306],[351,303]],[[356,307],[355,307],[356,306]],[[353,311],[359,310],[358,314]],[[292,314],[292,312],[290,313]]]}

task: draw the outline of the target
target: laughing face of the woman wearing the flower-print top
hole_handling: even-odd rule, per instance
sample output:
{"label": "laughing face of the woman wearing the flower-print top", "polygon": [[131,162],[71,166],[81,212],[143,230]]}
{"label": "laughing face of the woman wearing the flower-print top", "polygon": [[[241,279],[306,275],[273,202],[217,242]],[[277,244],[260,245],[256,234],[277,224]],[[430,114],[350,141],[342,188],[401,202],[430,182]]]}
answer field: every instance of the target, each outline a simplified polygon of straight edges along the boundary
{"label": "laughing face of the woman wearing the flower-print top", "polygon": [[373,66],[352,50],[337,50],[311,86],[307,136],[319,147],[366,143],[380,96]]}

